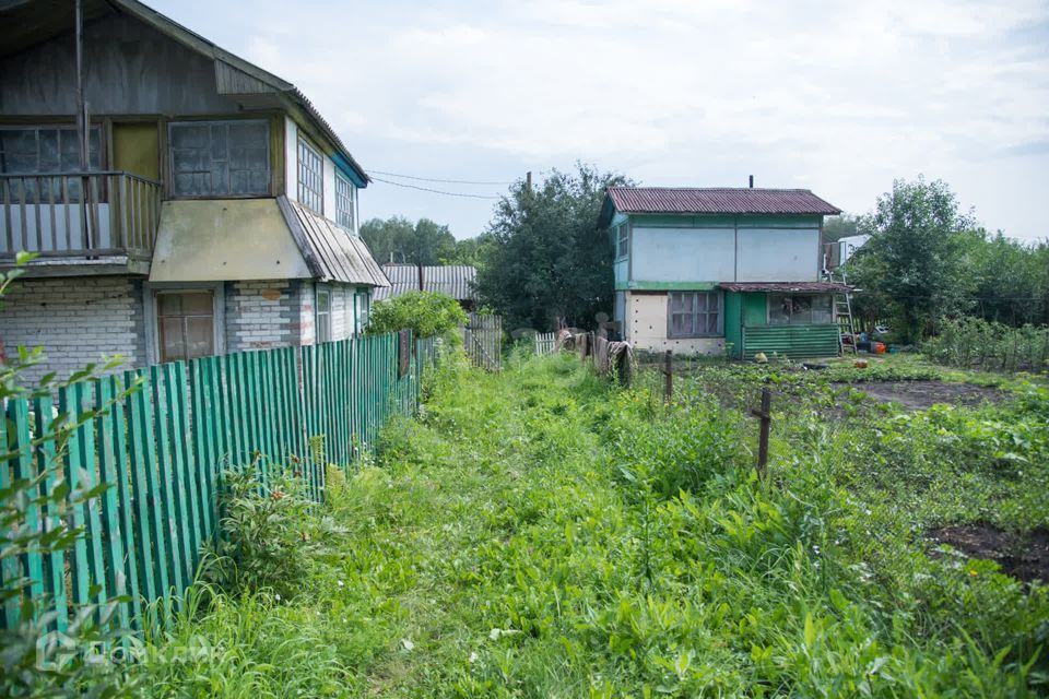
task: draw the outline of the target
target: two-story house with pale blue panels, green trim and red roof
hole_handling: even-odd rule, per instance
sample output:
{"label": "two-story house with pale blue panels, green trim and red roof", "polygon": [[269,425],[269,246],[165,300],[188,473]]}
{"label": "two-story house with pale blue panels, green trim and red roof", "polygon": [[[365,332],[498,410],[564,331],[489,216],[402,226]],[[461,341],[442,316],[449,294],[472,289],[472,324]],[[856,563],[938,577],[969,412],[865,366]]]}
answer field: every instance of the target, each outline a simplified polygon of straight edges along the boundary
{"label": "two-story house with pale blue panels, green trim and red roof", "polygon": [[598,226],[615,249],[614,320],[649,351],[753,357],[839,351],[821,281],[823,217],[805,189],[609,188]]}

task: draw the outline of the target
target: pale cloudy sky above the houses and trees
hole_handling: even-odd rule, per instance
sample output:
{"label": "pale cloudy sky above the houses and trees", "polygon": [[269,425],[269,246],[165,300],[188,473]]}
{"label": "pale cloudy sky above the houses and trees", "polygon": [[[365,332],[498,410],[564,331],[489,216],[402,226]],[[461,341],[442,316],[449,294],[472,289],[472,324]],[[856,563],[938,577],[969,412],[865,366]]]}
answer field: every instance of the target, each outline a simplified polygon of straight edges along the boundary
{"label": "pale cloudy sky above the houses and trees", "polygon": [[[1049,238],[1049,0],[146,1],[295,83],[382,179],[498,197],[582,161],[859,214],[924,175],[989,229]],[[361,193],[363,218],[458,238],[494,204]]]}

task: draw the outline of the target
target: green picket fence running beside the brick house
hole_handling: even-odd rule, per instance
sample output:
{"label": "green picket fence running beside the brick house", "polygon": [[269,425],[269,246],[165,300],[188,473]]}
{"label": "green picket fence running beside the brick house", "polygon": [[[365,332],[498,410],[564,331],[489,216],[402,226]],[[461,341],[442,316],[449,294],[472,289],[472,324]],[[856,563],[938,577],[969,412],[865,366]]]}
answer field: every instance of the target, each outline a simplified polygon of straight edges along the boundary
{"label": "green picket fence running beside the brick house", "polygon": [[[216,534],[225,469],[254,465],[263,483],[288,469],[322,501],[326,465],[345,467],[391,415],[413,413],[435,362],[433,340],[401,333],[127,371],[62,389],[58,405],[47,396],[9,401],[0,488],[36,477],[47,493],[63,481],[70,493],[111,487],[44,511],[30,502],[20,526],[84,534],[69,550],[5,560],[4,585],[28,579],[22,595],[38,615],[56,613],[44,617],[52,630],[64,630],[78,605],[117,595],[128,600],[120,628],[141,628],[145,605],[191,584]],[[92,410],[99,412],[80,419]],[[0,624],[11,628],[19,615],[13,599]]]}

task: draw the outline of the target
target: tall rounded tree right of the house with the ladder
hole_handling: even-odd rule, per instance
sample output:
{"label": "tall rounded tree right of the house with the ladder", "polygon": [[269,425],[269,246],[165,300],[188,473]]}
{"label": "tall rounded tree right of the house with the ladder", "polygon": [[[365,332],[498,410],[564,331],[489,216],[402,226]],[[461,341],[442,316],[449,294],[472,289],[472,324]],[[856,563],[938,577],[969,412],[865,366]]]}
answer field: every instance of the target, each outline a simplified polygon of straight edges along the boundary
{"label": "tall rounded tree right of the house with the ladder", "polygon": [[917,342],[936,318],[965,309],[964,233],[973,218],[958,211],[946,182],[893,182],[861,224],[872,234],[847,265],[849,281],[884,304],[905,342]]}

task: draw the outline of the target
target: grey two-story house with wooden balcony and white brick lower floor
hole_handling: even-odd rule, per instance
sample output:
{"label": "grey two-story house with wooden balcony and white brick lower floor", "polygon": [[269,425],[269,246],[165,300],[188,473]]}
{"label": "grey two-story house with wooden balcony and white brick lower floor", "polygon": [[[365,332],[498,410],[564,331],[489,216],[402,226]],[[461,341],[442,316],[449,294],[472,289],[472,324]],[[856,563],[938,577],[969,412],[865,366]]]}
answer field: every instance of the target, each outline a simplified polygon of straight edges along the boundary
{"label": "grey two-story house with wooden balcony and white brick lower floor", "polygon": [[39,254],[7,352],[61,375],[360,331],[388,285],[357,235],[368,177],[310,102],[140,2],[82,8],[78,32],[71,0],[0,5],[0,265]]}

